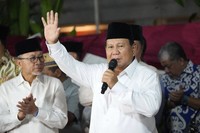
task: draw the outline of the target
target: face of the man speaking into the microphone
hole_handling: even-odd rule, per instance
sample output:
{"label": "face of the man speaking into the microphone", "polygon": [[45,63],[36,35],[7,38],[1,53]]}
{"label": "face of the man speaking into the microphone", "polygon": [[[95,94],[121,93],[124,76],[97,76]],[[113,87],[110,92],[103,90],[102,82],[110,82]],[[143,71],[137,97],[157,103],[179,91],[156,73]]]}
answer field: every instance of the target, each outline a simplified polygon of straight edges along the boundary
{"label": "face of the man speaking into the microphone", "polygon": [[116,59],[117,68],[124,70],[133,61],[134,48],[128,39],[108,39],[106,41],[107,60]]}

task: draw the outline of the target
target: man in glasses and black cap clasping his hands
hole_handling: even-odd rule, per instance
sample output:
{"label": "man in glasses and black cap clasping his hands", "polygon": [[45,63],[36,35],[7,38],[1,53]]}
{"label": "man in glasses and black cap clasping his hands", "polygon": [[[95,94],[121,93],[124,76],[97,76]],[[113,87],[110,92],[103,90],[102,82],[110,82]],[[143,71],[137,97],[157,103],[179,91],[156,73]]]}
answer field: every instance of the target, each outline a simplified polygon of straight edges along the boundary
{"label": "man in glasses and black cap clasping his hands", "polygon": [[37,38],[17,43],[15,51],[21,72],[0,86],[0,132],[58,133],[68,121],[62,83],[42,74]]}

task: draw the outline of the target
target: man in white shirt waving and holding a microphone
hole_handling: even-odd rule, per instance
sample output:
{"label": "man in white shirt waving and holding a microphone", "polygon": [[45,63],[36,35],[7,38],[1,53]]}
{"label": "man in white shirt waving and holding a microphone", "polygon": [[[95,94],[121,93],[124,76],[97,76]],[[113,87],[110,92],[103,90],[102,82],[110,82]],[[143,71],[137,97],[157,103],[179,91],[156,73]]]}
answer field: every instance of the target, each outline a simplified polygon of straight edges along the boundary
{"label": "man in white shirt waving and holding a microphone", "polygon": [[[158,75],[134,59],[130,26],[111,23],[106,38],[108,62],[117,60],[114,71],[107,63],[85,64],[73,59],[58,41],[58,14],[42,18],[49,54],[58,66],[76,82],[91,88],[94,94],[90,133],[157,133],[154,115],[161,103]],[[102,83],[108,89],[101,94]]]}

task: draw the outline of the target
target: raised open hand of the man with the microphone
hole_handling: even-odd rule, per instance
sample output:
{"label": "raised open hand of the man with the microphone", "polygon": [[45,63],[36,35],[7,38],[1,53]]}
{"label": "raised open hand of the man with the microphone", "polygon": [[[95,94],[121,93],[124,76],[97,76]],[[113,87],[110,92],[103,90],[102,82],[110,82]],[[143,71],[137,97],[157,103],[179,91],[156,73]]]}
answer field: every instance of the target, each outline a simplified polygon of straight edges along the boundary
{"label": "raised open hand of the man with the microphone", "polygon": [[54,13],[51,10],[50,12],[47,12],[46,21],[43,17],[41,19],[44,26],[44,36],[47,43],[56,43],[60,34],[60,28],[58,27],[58,13]]}

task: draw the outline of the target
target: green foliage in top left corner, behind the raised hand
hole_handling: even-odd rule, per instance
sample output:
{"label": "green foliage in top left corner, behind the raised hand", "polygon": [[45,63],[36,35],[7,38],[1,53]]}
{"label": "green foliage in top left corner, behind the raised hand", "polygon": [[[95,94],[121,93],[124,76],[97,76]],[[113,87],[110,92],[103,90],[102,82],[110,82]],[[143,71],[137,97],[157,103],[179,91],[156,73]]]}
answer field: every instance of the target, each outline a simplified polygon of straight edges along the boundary
{"label": "green foliage in top left corner, behind the raised hand", "polygon": [[[0,1],[0,24],[10,27],[11,35],[29,36],[43,31],[41,16],[46,16],[50,10],[61,12],[64,0],[40,0],[40,12],[31,13],[30,0]],[[35,16],[33,16],[35,15]]]}

